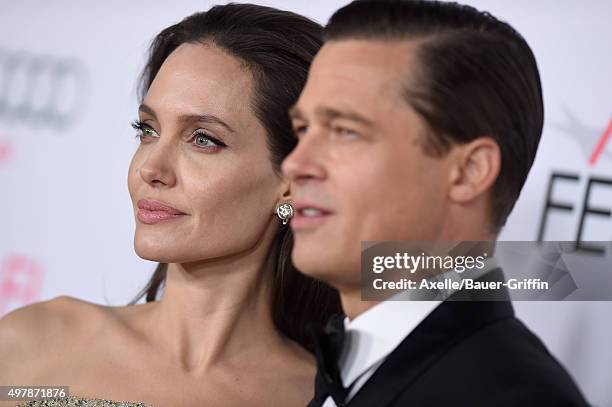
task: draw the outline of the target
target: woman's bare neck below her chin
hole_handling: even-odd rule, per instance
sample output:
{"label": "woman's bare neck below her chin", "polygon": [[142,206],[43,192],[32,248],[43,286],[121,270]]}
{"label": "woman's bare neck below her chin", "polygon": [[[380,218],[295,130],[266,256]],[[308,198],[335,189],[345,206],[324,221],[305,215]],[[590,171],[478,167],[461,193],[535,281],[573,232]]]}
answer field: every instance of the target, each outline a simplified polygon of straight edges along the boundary
{"label": "woman's bare neck below her chin", "polygon": [[168,264],[148,330],[186,373],[198,376],[229,359],[248,360],[282,340],[270,309],[269,247],[218,261]]}

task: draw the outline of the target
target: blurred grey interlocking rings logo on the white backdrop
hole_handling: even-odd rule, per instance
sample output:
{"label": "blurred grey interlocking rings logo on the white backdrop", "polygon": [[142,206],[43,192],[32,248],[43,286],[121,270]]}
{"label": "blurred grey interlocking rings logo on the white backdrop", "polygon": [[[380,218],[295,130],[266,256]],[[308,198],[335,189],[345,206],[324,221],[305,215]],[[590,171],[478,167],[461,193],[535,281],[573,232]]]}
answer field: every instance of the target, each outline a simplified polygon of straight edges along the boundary
{"label": "blurred grey interlocking rings logo on the white backdrop", "polygon": [[0,49],[0,120],[68,127],[87,102],[87,79],[78,60]]}

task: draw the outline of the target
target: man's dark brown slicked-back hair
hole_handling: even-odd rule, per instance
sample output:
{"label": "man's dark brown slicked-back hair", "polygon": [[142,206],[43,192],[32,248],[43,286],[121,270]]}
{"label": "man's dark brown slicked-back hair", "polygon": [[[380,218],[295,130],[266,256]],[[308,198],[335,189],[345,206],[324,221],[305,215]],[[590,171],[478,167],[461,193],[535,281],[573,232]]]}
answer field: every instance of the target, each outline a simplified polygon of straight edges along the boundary
{"label": "man's dark brown slicked-back hair", "polygon": [[398,86],[431,130],[424,150],[441,156],[477,137],[497,142],[501,170],[490,213],[498,232],[533,164],[544,120],[540,76],[524,38],[457,3],[357,0],[331,17],[325,39],[417,41],[416,76]]}

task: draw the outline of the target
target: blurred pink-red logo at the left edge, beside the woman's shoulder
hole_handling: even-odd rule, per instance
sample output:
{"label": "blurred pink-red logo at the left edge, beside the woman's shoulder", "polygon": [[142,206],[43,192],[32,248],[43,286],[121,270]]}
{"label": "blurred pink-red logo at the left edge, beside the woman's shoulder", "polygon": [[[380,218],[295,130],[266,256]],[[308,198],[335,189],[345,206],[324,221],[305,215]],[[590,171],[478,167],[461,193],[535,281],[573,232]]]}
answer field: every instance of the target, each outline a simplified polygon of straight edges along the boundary
{"label": "blurred pink-red logo at the left edge, beside the woman's shoulder", "polygon": [[22,254],[8,255],[0,265],[0,315],[30,304],[40,297],[43,281],[40,266]]}

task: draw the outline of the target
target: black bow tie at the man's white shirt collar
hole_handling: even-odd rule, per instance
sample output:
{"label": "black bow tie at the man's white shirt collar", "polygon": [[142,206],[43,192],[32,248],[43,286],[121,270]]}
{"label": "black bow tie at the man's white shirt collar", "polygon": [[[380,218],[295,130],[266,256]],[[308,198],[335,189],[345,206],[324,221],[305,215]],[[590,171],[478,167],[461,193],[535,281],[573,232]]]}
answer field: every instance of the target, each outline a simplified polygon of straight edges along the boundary
{"label": "black bow tie at the man's white shirt collar", "polygon": [[[319,330],[320,331],[320,330]],[[315,333],[316,335],[316,333]],[[333,315],[316,341],[317,377],[315,396],[308,407],[319,407],[328,396],[338,407],[344,406],[348,390],[342,384],[338,362],[344,344],[344,316]]]}

